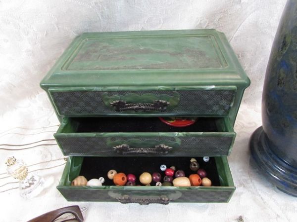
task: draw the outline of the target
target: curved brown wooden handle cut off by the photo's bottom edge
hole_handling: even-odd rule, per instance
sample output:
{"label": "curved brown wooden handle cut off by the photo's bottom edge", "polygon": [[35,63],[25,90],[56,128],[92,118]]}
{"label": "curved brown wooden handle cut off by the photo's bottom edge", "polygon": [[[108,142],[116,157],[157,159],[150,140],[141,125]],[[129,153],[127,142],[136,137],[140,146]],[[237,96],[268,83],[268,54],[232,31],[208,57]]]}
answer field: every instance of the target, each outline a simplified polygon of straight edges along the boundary
{"label": "curved brown wooden handle cut off by the photo's bottom edge", "polygon": [[[63,214],[73,214],[76,218],[76,220],[78,222],[83,222],[84,221],[84,217],[82,215],[82,212],[79,208],[79,206],[75,205],[75,206],[69,206],[69,207],[63,207],[54,211],[50,211],[46,214],[43,214],[37,218],[34,218],[28,222],[53,222],[54,220],[56,220],[58,217],[62,216]],[[73,219],[66,219],[65,221],[69,221],[69,220],[73,220]]]}

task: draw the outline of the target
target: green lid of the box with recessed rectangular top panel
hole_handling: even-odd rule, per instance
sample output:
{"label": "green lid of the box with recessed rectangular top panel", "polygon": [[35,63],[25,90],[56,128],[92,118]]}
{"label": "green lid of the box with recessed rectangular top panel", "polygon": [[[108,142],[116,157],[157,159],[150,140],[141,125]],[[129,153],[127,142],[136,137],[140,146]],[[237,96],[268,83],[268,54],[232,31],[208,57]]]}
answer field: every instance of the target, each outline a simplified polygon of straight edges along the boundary
{"label": "green lid of the box with recessed rectangular top panel", "polygon": [[230,85],[249,79],[215,30],[84,33],[41,86]]}

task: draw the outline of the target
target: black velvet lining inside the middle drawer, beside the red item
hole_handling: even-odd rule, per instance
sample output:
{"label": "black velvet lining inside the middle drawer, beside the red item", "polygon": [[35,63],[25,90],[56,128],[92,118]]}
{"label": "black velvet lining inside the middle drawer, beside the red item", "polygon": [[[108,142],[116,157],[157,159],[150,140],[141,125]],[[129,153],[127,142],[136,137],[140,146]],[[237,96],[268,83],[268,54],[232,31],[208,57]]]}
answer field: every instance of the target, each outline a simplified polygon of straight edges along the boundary
{"label": "black velvet lining inside the middle drawer, beside the red item", "polygon": [[191,126],[173,127],[158,117],[83,117],[71,118],[78,122],[77,133],[89,132],[218,132],[218,118],[198,118]]}

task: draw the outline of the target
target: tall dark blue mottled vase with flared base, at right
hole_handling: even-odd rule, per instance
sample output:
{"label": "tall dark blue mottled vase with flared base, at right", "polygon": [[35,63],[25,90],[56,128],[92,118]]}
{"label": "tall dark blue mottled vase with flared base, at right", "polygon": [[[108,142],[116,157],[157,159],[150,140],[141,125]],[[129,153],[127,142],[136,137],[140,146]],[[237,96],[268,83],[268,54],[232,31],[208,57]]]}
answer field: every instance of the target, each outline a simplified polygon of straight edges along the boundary
{"label": "tall dark blue mottled vase with flared base, at right", "polygon": [[297,0],[288,0],[274,39],[252,157],[269,181],[297,196]]}

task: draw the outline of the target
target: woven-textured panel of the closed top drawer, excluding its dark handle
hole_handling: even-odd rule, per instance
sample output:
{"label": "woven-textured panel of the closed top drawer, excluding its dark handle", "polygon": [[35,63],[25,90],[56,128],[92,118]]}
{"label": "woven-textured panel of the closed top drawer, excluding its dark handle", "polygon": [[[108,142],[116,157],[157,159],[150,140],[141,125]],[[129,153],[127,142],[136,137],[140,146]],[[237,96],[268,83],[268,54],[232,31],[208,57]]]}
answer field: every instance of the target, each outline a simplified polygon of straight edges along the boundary
{"label": "woven-textured panel of the closed top drawer, excluding its dark handle", "polygon": [[[121,113],[172,114],[172,115],[227,115],[234,100],[235,90],[188,91],[65,91],[51,92],[57,111],[63,116],[94,116]],[[131,95],[129,97],[129,95]],[[144,96],[145,95],[145,96]],[[153,103],[166,97],[173,100],[166,111],[115,111],[110,102],[126,100],[127,103]],[[124,98],[124,99],[123,99]],[[137,99],[135,101],[134,99]],[[149,100],[148,98],[151,98]]]}

